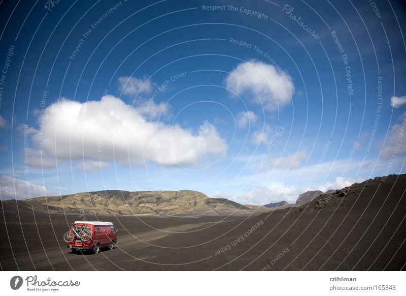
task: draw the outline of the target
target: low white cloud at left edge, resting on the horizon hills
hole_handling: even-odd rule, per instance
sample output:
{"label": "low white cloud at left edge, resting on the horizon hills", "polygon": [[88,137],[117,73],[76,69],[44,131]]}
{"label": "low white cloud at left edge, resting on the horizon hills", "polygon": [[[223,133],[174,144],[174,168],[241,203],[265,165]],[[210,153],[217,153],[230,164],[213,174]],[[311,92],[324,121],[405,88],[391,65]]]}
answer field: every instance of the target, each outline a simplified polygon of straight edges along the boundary
{"label": "low white cloud at left edge, resting on the horizon hills", "polygon": [[0,191],[2,199],[26,199],[48,195],[43,186],[33,185],[27,181],[13,179],[10,176],[0,176]]}

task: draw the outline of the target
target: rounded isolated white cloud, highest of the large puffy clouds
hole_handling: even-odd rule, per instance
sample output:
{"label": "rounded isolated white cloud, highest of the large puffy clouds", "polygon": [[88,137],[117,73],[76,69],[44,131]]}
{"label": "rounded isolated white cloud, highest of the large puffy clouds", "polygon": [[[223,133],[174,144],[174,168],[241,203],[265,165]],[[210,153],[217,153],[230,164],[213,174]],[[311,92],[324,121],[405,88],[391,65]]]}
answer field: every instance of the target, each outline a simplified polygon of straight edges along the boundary
{"label": "rounded isolated white cloud, highest of the large puffy clouds", "polygon": [[278,110],[292,100],[292,77],[279,67],[257,60],[241,63],[226,77],[227,88],[239,96],[250,96],[266,110]]}

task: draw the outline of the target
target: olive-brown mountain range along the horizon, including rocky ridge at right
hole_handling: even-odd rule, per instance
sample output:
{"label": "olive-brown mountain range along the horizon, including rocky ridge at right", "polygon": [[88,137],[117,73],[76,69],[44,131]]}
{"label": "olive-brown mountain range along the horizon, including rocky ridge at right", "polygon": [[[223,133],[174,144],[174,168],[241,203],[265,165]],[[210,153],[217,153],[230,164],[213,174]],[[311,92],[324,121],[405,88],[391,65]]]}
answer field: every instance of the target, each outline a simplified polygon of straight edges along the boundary
{"label": "olive-brown mountain range along the horizon, including rocky ridge at right", "polygon": [[[379,177],[377,177],[379,178]],[[374,180],[376,180],[375,178]],[[371,182],[371,179],[368,180]],[[367,184],[365,181],[362,184]],[[50,214],[79,215],[139,215],[139,216],[226,216],[263,214],[270,211],[291,207],[298,211],[319,208],[334,196],[343,197],[354,194],[354,189],[361,186],[353,184],[343,189],[307,191],[299,195],[296,203],[286,201],[272,202],[265,205],[240,204],[226,198],[210,198],[204,193],[192,190],[179,191],[121,191],[106,190],[83,192],[70,195],[36,197],[26,200],[5,200],[1,211],[20,212],[35,211]]]}

